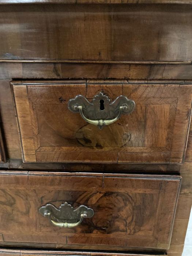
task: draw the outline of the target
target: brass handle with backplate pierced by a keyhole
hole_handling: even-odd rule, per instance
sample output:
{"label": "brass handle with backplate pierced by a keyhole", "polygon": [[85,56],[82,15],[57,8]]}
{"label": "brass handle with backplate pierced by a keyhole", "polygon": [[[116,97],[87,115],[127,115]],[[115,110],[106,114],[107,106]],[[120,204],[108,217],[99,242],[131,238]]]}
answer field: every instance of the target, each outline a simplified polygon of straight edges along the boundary
{"label": "brass handle with backplate pierced by a keyhole", "polygon": [[84,96],[77,95],[74,99],[69,99],[68,109],[74,113],[80,113],[82,118],[90,124],[97,125],[102,129],[117,121],[121,114],[130,114],[135,109],[135,102],[121,95],[112,103],[107,95],[101,91],[89,102]]}

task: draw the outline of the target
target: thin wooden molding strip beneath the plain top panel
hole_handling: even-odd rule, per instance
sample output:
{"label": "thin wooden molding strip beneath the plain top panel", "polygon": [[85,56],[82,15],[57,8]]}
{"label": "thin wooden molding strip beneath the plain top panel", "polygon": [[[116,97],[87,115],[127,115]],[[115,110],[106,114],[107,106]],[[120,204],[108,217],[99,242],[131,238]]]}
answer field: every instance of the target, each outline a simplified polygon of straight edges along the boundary
{"label": "thin wooden molding strip beneath the plain top panel", "polygon": [[[2,2],[0,2],[2,4]],[[192,4],[192,2],[191,2]],[[101,63],[101,64],[192,64],[192,61],[104,61],[104,60],[50,60],[50,59],[1,59],[1,62],[9,63]]]}

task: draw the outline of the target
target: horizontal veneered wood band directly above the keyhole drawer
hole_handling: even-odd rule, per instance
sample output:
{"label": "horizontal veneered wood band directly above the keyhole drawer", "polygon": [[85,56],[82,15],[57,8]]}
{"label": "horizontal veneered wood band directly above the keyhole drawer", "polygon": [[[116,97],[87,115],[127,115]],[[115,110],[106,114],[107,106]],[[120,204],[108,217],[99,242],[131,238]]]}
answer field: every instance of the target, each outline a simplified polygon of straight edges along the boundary
{"label": "horizontal veneered wood band directly above the keyhole drawer", "polygon": [[[191,64],[28,63],[0,62],[0,80],[7,79],[192,80]],[[153,82],[153,81],[152,81]]]}

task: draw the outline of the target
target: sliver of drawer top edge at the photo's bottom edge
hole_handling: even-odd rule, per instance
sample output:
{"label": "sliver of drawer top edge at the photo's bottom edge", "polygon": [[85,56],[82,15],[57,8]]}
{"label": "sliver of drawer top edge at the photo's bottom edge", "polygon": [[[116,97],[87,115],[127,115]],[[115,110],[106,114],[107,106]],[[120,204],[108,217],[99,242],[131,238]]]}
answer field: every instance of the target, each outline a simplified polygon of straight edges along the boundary
{"label": "sliver of drawer top edge at the photo's bottom edge", "polygon": [[133,253],[105,253],[105,252],[67,252],[67,251],[27,251],[0,249],[1,256],[162,256],[163,254],[133,254]]}

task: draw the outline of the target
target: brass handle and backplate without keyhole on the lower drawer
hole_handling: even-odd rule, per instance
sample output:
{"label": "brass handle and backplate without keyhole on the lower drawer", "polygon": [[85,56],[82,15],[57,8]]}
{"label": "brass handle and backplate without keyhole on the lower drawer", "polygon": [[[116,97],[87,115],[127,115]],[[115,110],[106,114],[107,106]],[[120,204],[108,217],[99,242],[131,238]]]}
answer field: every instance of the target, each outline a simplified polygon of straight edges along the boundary
{"label": "brass handle and backplate without keyhole on the lower drawer", "polygon": [[39,212],[44,217],[48,217],[54,226],[65,228],[76,227],[83,221],[83,218],[91,218],[94,215],[93,209],[87,206],[81,205],[74,210],[67,202],[61,204],[59,209],[53,204],[46,204],[39,208]]}

